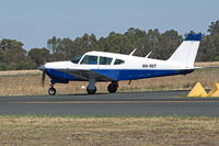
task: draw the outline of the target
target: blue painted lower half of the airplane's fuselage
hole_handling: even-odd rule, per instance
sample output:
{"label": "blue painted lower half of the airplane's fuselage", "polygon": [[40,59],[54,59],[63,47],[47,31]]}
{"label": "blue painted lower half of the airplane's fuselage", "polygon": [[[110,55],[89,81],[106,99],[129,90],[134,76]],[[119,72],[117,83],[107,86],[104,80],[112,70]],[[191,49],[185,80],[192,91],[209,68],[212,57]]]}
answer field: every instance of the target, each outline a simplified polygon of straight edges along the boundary
{"label": "blue painted lower half of the airplane's fuselage", "polygon": [[[161,69],[92,69],[91,71],[96,74],[96,77],[107,77],[112,80],[135,80],[142,78],[153,78],[162,76],[172,76],[172,75],[185,75],[194,71],[191,70],[161,70]],[[46,69],[46,74],[54,82],[64,82],[67,83],[71,80],[81,80],[73,75],[56,70],[56,69]],[[96,80],[99,81],[99,80]]]}

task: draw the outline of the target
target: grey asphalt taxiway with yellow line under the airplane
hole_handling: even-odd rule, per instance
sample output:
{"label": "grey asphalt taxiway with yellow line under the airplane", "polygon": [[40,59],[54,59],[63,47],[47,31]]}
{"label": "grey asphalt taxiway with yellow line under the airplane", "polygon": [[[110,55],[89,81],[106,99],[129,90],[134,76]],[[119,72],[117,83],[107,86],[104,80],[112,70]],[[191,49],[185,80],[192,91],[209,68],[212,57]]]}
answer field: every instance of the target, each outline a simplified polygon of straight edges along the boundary
{"label": "grey asphalt taxiway with yellow line under the airplane", "polygon": [[219,116],[219,98],[185,98],[187,91],[0,97],[0,115]]}

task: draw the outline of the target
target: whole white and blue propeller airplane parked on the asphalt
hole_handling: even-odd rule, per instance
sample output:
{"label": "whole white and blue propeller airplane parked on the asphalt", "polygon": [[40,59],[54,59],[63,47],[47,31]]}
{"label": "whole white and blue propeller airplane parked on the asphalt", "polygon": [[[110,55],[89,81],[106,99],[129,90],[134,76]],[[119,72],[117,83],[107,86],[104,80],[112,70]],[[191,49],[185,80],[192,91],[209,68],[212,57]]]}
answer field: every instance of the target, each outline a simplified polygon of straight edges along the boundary
{"label": "whole white and blue propeller airplane parked on the asphalt", "polygon": [[68,83],[69,81],[89,81],[87,91],[89,94],[96,92],[96,81],[110,81],[110,93],[117,91],[118,81],[137,80],[173,75],[186,75],[199,67],[194,67],[201,34],[188,34],[168,60],[129,55],[88,52],[73,57],[68,61],[54,61],[42,65],[42,83],[45,75],[50,78],[48,93],[56,94],[55,83]]}

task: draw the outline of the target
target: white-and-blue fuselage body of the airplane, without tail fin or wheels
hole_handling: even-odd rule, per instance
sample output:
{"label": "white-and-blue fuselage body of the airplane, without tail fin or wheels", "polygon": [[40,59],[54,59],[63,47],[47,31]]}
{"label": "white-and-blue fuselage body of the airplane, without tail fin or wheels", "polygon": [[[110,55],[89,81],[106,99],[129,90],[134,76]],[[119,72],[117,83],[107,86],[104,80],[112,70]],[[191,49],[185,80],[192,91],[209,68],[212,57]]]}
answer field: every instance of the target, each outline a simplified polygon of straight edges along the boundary
{"label": "white-and-blue fuselage body of the airplane, without tail fin or wheels", "polygon": [[[82,64],[81,60],[85,55],[96,56],[96,65]],[[89,52],[83,57],[78,64],[72,61],[47,63],[45,65],[45,71],[54,82],[65,83],[74,80],[89,81],[90,78],[95,78],[96,81],[136,80],[161,76],[185,75],[194,70],[194,68],[186,67],[183,64],[114,53]],[[110,65],[100,65],[100,57],[113,59]],[[124,60],[124,63],[115,65],[116,59]]]}

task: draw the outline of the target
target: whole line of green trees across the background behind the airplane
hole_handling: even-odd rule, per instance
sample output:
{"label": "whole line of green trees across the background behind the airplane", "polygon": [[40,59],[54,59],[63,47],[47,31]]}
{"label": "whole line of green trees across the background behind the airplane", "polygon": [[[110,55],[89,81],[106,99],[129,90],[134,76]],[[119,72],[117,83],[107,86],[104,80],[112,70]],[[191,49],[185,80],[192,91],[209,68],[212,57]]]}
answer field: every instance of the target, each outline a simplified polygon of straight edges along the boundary
{"label": "whole line of green trees across the background behind the airplane", "polygon": [[[193,32],[193,31],[191,31]],[[211,22],[209,34],[204,35],[197,55],[198,61],[219,61],[219,21]],[[0,69],[32,69],[54,60],[70,60],[74,55],[90,50],[129,54],[137,48],[135,55],[168,59],[182,43],[183,36],[170,30],[160,33],[158,29],[142,31],[130,27],[124,34],[111,32],[108,36],[96,38],[94,34],[84,34],[76,40],[53,36],[47,41],[47,48],[32,48],[28,53],[23,43],[15,40],[0,41]],[[49,52],[50,50],[50,52]]]}

